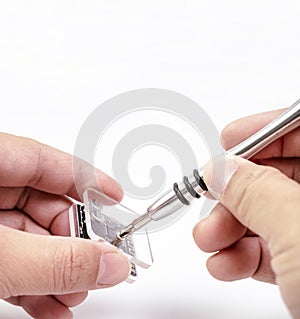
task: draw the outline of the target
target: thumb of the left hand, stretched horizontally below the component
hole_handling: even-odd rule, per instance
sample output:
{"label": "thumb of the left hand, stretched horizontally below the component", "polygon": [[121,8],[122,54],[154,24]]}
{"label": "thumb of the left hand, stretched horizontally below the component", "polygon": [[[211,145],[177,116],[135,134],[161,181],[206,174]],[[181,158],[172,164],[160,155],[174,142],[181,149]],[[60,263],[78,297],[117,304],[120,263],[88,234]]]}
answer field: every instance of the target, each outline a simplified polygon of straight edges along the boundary
{"label": "thumb of the left hand, stretched horizontally below the component", "polygon": [[129,274],[127,258],[102,243],[5,226],[0,226],[0,234],[0,298],[109,287]]}

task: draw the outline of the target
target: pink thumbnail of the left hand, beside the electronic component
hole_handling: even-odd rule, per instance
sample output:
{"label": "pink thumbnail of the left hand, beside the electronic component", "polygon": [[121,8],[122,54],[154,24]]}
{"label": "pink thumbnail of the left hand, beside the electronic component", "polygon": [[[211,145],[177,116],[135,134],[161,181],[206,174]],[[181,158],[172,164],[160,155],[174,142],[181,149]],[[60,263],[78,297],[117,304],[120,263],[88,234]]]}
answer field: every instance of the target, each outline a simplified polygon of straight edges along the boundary
{"label": "pink thumbnail of the left hand, beside the electronic component", "polygon": [[97,285],[116,285],[127,279],[130,266],[127,258],[118,252],[106,252],[100,259]]}

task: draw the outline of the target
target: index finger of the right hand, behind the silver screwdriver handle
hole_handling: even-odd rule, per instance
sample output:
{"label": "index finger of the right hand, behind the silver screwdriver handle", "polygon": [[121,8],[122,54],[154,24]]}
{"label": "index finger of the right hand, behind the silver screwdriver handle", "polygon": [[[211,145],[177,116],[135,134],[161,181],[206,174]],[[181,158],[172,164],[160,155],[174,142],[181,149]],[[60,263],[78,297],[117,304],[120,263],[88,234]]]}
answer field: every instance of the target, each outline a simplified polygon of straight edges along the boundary
{"label": "index finger of the right hand, behind the silver screwdriver handle", "polygon": [[[223,146],[226,150],[239,144],[261,128],[269,124],[284,110],[265,112],[251,115],[236,120],[227,125],[221,134]],[[297,157],[300,156],[300,128],[284,135],[282,138],[271,143],[253,158],[272,157]]]}

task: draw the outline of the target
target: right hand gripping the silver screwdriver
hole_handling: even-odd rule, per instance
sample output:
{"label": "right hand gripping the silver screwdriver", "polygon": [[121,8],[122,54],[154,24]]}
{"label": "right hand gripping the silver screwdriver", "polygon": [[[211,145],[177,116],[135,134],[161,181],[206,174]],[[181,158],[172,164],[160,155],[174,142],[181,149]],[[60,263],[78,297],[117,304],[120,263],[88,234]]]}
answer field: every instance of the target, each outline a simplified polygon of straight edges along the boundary
{"label": "right hand gripping the silver screwdriver", "polygon": [[[224,147],[238,144],[280,112],[230,124],[222,134]],[[299,127],[259,152],[252,162],[226,157],[225,187],[212,190],[220,204],[194,228],[197,245],[217,252],[207,261],[214,277],[277,283],[295,318],[300,318],[299,157]],[[211,174],[208,165],[204,174],[208,185]]]}

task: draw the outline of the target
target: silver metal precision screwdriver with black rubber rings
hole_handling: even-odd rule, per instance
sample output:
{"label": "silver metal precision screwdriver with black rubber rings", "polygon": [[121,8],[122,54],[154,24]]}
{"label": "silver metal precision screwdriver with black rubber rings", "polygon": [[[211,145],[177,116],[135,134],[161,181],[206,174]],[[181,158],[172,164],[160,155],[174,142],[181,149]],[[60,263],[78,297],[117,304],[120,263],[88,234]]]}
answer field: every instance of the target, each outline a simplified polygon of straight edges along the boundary
{"label": "silver metal precision screwdriver with black rubber rings", "polygon": [[[228,150],[226,154],[238,155],[246,159],[250,158],[299,125],[300,100],[296,101],[260,131]],[[145,214],[133,220],[132,223],[120,231],[112,241],[112,244],[119,245],[128,235],[144,227],[149,222],[161,220],[186,205],[190,205],[195,198],[200,198],[203,193],[208,191],[202,179],[203,169],[203,167],[200,169],[200,173],[198,170],[194,170],[192,176],[185,176],[183,182],[179,184],[174,183],[172,190],[162,195],[148,207]]]}

